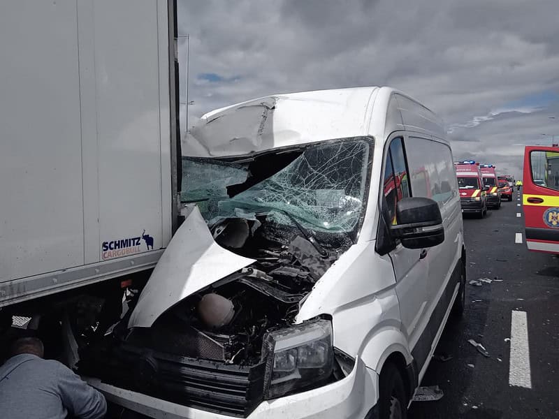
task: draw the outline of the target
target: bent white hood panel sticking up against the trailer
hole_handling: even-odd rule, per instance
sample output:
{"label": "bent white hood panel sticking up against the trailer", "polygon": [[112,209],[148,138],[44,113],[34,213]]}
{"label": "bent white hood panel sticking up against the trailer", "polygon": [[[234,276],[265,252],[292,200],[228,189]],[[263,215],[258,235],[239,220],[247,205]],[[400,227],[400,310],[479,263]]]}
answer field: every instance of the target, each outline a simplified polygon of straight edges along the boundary
{"label": "bent white hood panel sticking up against the trailer", "polygon": [[180,300],[254,262],[220,247],[195,207],[159,259],[128,327],[149,328]]}

